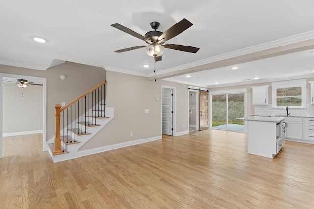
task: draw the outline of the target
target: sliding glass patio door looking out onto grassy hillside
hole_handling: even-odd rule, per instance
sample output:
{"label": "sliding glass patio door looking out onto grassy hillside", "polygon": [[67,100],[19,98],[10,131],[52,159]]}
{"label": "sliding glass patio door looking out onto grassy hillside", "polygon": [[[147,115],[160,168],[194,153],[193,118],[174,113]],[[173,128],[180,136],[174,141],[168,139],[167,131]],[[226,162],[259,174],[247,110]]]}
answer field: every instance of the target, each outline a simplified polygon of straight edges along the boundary
{"label": "sliding glass patio door looking out onto grassy hillside", "polygon": [[211,96],[211,127],[244,132],[245,94],[230,93]]}

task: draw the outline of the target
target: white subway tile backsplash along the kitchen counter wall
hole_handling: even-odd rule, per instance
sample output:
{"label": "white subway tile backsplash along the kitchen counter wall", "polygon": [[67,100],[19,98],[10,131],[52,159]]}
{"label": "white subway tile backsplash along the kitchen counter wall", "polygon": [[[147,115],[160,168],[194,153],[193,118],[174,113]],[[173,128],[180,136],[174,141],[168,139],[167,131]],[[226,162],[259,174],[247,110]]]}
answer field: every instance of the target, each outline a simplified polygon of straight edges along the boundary
{"label": "white subway tile backsplash along the kitchen counter wall", "polygon": [[[307,104],[306,108],[288,108],[290,116],[314,116],[314,105]],[[273,108],[269,105],[254,105],[255,115],[283,115],[287,114],[286,107]]]}

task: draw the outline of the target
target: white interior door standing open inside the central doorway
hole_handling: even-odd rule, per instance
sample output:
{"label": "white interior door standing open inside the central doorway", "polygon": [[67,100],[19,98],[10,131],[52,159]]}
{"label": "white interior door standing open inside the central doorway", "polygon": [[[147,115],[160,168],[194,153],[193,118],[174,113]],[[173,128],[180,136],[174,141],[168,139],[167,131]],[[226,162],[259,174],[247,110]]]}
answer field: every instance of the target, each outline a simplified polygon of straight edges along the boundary
{"label": "white interior door standing open inside the central doorway", "polygon": [[173,135],[173,89],[162,88],[161,121],[162,134]]}

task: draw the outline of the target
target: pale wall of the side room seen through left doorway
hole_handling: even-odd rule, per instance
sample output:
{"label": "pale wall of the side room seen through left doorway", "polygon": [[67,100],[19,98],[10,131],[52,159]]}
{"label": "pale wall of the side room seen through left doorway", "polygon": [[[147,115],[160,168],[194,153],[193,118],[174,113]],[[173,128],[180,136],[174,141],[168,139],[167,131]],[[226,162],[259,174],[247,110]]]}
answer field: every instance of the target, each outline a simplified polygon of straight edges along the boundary
{"label": "pale wall of the side room seen through left doorway", "polygon": [[[22,97],[23,92],[23,97]],[[43,87],[3,84],[3,133],[43,129]]]}

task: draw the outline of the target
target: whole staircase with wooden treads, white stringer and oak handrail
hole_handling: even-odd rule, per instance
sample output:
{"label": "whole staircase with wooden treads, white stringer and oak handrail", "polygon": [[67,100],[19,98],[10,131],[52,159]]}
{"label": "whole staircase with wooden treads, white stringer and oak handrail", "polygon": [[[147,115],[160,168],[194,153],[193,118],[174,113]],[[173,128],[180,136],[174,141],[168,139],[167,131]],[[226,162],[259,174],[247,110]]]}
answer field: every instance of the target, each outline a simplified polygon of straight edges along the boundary
{"label": "whole staircase with wooden treads, white stringer and oak handrail", "polygon": [[114,118],[114,108],[105,105],[105,81],[67,106],[55,108],[56,135],[54,143],[47,142],[53,162],[81,156],[79,148]]}

